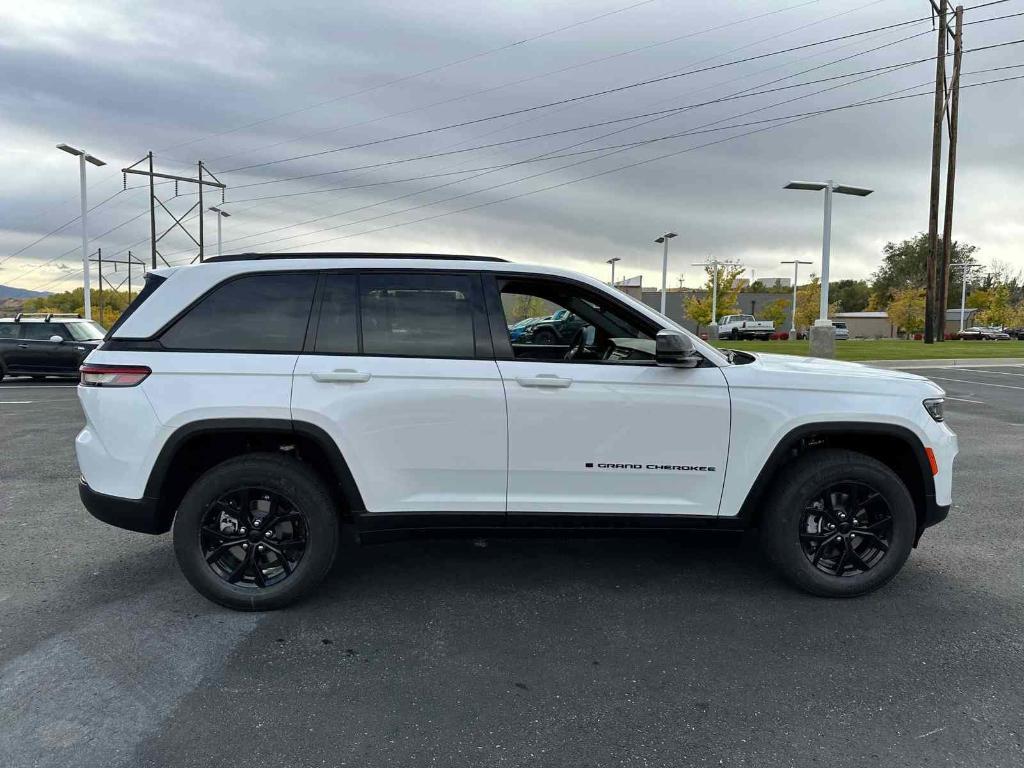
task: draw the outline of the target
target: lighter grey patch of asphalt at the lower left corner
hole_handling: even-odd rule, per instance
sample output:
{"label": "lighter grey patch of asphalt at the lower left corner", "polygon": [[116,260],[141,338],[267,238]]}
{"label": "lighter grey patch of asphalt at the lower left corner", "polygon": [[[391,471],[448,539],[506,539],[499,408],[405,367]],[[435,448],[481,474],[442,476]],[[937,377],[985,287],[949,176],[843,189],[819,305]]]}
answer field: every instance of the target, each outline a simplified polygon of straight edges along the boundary
{"label": "lighter grey patch of asphalt at the lower left corner", "polygon": [[217,674],[258,614],[109,604],[0,669],[0,765],[116,768]]}

